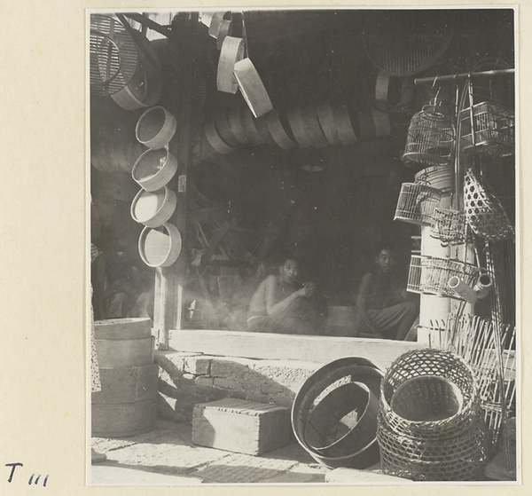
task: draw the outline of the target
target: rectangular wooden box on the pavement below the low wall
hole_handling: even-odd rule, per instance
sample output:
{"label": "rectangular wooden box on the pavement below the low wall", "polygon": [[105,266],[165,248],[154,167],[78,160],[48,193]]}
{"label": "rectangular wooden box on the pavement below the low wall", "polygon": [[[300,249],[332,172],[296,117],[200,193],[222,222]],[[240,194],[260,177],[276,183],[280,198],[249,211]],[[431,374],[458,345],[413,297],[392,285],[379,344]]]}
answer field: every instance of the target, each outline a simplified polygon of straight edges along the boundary
{"label": "rectangular wooden box on the pavement below the low wall", "polygon": [[221,450],[261,454],[292,440],[288,408],[225,398],[195,405],[192,442]]}

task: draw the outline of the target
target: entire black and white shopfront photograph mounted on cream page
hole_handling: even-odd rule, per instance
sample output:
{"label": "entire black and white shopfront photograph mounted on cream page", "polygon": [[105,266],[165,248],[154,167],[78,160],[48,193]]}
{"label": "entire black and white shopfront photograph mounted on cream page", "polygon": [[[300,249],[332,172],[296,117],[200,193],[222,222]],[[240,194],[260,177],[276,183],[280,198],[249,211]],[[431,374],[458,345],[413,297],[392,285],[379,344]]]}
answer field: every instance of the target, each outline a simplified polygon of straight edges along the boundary
{"label": "entire black and white shopfront photograph mounted on cream page", "polygon": [[84,13],[86,484],[520,484],[517,9]]}

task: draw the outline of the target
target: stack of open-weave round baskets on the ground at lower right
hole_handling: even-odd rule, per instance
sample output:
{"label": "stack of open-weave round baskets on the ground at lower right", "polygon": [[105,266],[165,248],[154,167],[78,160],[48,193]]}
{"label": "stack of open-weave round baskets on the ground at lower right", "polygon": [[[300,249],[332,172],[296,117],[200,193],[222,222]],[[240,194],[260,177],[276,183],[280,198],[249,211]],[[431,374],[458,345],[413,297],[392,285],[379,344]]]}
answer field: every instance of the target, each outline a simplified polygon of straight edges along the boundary
{"label": "stack of open-weave round baskets on the ground at lower right", "polygon": [[413,480],[475,480],[486,461],[477,383],[463,358],[413,350],[380,384],[382,470]]}

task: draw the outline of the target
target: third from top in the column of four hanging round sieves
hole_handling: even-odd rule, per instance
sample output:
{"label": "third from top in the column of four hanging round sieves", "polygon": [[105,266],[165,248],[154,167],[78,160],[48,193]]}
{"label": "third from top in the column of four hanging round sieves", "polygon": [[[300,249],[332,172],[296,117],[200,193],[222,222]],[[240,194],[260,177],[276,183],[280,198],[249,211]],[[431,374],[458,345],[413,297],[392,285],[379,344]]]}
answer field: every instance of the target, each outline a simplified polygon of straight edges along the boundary
{"label": "third from top in the column of four hanging round sieves", "polygon": [[131,217],[139,224],[159,227],[172,217],[176,206],[176,193],[168,186],[154,192],[141,189],[131,203]]}

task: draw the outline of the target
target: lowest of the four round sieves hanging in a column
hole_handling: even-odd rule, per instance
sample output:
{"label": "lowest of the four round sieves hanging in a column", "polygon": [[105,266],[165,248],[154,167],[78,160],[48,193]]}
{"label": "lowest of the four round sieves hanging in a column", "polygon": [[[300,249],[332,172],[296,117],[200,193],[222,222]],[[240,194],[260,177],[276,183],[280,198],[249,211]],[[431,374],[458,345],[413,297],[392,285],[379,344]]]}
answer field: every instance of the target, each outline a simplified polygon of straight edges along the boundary
{"label": "lowest of the four round sieves hanging in a column", "polygon": [[145,227],[138,239],[138,253],[148,267],[169,267],[181,253],[181,232],[174,224]]}

